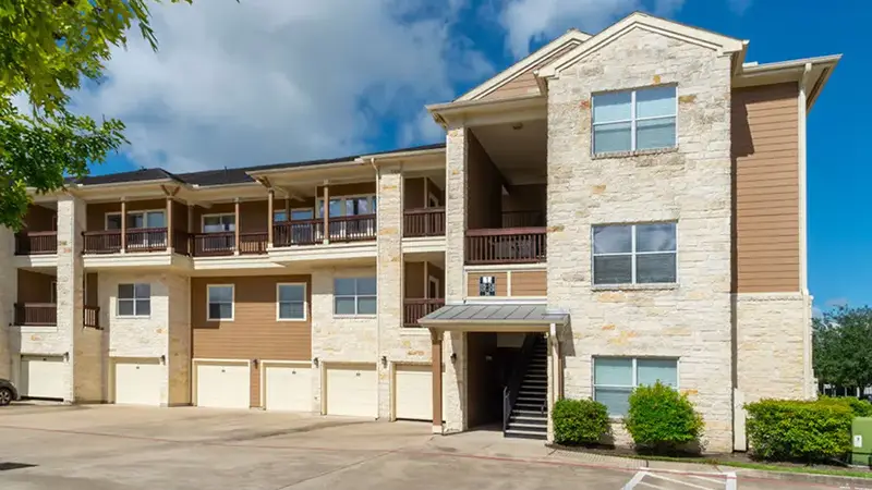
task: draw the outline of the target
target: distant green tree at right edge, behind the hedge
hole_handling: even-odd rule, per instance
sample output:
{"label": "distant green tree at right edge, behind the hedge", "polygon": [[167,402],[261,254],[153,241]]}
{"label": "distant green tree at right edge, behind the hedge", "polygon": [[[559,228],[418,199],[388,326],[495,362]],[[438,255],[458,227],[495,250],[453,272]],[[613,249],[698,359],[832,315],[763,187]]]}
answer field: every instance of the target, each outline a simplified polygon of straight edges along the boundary
{"label": "distant green tree at right edge, behind the hedge", "polygon": [[841,387],[872,385],[872,308],[841,307],[815,318],[814,373]]}

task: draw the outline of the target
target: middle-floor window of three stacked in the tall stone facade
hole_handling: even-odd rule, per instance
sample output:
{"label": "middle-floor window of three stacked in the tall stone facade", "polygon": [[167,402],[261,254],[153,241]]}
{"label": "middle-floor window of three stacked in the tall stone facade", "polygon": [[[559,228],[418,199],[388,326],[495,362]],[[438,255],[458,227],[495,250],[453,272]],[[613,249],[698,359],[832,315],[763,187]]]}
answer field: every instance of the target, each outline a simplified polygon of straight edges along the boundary
{"label": "middle-floor window of three stacked in the tall stone facade", "polygon": [[676,223],[593,226],[593,283],[676,282]]}

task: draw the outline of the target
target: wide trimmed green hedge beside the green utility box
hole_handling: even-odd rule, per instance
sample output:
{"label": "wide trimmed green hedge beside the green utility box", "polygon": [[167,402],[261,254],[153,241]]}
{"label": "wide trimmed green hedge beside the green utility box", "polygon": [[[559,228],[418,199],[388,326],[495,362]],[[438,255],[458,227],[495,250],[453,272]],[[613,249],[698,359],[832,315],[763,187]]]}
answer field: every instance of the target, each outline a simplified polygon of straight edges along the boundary
{"label": "wide trimmed green hedge beside the green utility box", "polygon": [[748,441],[756,457],[772,461],[825,461],[851,448],[849,402],[762,400],[744,406]]}

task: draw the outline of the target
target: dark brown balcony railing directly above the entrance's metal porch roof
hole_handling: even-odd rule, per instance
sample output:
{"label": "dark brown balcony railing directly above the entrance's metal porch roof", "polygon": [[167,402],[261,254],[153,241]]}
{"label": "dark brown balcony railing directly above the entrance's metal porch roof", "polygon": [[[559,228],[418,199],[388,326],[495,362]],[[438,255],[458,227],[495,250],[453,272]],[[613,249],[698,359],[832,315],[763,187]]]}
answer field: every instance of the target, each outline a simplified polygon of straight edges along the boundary
{"label": "dark brown balcony railing directly above the entrance's metal porch roof", "polygon": [[467,231],[467,264],[544,262],[545,228]]}

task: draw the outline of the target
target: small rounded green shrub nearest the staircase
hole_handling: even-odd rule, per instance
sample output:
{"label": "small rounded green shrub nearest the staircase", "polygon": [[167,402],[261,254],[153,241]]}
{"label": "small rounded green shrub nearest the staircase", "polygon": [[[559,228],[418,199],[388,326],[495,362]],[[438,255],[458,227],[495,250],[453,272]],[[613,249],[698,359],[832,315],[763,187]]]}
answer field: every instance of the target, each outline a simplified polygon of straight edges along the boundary
{"label": "small rounded green shrub nearest the staircase", "polygon": [[552,411],[554,441],[577,445],[598,442],[608,434],[608,409],[593,400],[558,400]]}

